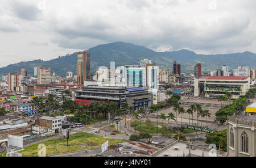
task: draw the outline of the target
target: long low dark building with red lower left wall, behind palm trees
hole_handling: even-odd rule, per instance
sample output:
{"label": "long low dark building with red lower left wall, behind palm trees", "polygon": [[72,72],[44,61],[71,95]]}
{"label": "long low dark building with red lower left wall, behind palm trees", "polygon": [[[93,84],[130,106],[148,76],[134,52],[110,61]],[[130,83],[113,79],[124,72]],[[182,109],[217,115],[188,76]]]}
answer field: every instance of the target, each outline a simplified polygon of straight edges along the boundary
{"label": "long low dark building with red lower left wall, behind palm trees", "polygon": [[152,93],[141,87],[86,86],[82,90],[75,91],[75,101],[82,105],[92,102],[114,102],[122,108],[123,103],[126,102],[138,110],[139,107],[150,107],[152,100]]}

